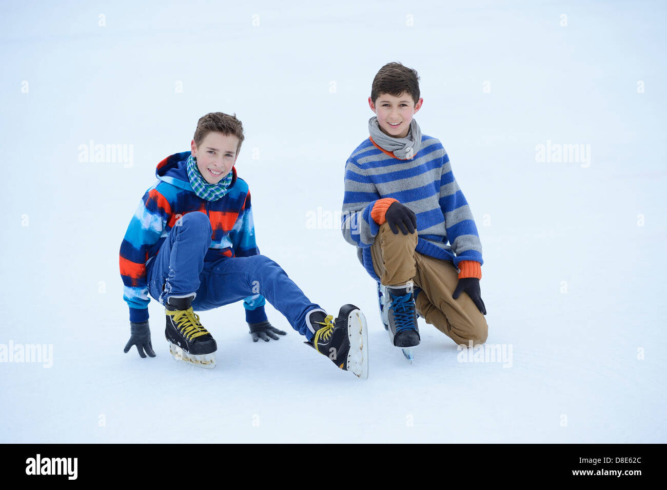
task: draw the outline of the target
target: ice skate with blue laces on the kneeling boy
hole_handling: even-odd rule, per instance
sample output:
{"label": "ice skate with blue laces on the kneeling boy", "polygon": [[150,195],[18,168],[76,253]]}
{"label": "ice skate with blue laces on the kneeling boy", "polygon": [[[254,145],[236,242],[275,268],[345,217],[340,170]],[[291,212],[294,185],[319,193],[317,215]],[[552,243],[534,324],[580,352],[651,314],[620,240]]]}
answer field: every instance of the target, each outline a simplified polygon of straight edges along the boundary
{"label": "ice skate with blue laces on the kneeling boy", "polygon": [[414,284],[410,281],[401,286],[381,285],[380,288],[382,323],[392,344],[403,349],[406,359],[412,362],[412,348],[420,344]]}

